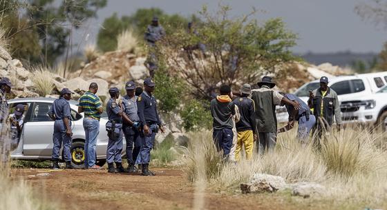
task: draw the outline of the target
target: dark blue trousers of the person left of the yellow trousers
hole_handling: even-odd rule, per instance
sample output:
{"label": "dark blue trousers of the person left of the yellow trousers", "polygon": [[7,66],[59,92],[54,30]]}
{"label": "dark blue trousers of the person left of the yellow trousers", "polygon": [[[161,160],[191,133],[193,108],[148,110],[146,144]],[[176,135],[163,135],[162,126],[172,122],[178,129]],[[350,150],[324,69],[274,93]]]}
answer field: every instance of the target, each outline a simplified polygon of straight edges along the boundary
{"label": "dark blue trousers of the person left of the yellow trousers", "polygon": [[216,149],[218,149],[218,151],[223,150],[223,156],[225,157],[230,153],[233,137],[234,133],[231,128],[214,129],[214,132],[212,133]]}

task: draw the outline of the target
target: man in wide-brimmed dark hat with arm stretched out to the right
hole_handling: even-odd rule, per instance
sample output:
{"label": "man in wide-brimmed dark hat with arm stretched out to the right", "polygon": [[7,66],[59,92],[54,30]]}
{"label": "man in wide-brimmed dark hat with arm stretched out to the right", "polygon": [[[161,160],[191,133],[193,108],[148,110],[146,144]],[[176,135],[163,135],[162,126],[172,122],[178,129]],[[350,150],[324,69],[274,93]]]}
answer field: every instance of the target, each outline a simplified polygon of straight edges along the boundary
{"label": "man in wide-brimmed dark hat with arm stretched out to the right", "polygon": [[281,102],[292,105],[299,110],[299,103],[290,101],[279,92],[272,90],[276,83],[272,82],[272,77],[263,76],[262,81],[257,83],[258,89],[252,90],[252,100],[255,105],[256,127],[258,129],[258,154],[273,150],[276,145],[277,118],[276,105]]}

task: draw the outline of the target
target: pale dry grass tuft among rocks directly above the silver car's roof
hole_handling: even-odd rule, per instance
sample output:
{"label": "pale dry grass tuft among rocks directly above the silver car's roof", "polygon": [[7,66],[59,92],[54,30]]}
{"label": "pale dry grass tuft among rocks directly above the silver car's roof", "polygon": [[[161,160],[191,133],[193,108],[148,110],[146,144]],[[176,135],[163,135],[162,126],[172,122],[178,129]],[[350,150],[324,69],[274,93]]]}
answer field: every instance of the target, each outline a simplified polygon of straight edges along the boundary
{"label": "pale dry grass tuft among rocks directly above the silver car's roof", "polygon": [[46,96],[51,94],[54,88],[53,70],[48,67],[37,66],[32,67],[32,82],[39,96]]}

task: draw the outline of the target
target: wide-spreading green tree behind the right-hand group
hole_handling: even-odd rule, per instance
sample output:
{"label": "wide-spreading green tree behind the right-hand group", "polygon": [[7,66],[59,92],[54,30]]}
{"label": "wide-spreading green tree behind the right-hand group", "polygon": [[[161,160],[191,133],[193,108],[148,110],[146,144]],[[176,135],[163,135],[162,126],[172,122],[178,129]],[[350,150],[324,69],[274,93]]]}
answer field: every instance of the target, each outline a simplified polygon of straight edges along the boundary
{"label": "wide-spreading green tree behind the right-hand group", "polygon": [[[182,77],[198,98],[211,98],[221,84],[256,83],[262,75],[276,74],[276,67],[297,59],[290,51],[297,36],[285,29],[281,19],[259,24],[251,18],[255,10],[240,18],[229,18],[229,10],[221,6],[212,16],[203,7],[197,34],[178,28],[159,43],[171,74]],[[206,46],[205,54],[187,50],[198,43]]]}

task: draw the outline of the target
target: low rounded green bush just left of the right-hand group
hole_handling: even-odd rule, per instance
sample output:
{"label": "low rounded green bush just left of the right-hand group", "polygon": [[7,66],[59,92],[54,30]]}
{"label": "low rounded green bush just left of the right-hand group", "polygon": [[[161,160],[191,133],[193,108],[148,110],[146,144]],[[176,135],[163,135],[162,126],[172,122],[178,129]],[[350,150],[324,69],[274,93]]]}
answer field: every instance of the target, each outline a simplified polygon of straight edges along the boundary
{"label": "low rounded green bush just left of the right-hand group", "polygon": [[198,129],[211,129],[212,117],[209,112],[208,103],[191,99],[185,103],[180,112],[182,125],[187,131],[197,131]]}

